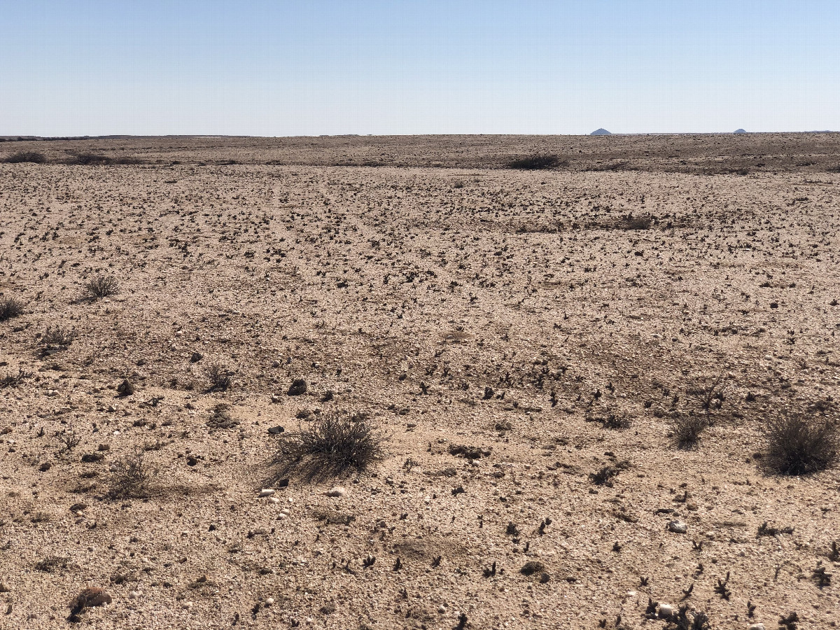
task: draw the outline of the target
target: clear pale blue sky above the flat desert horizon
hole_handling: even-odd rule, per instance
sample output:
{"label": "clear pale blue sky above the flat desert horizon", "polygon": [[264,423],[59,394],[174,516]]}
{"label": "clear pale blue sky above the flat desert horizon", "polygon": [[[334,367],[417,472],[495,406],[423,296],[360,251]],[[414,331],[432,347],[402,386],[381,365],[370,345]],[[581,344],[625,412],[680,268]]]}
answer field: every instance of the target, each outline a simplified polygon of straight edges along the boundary
{"label": "clear pale blue sky above the flat desert horizon", "polygon": [[840,130],[840,0],[0,0],[0,134]]}

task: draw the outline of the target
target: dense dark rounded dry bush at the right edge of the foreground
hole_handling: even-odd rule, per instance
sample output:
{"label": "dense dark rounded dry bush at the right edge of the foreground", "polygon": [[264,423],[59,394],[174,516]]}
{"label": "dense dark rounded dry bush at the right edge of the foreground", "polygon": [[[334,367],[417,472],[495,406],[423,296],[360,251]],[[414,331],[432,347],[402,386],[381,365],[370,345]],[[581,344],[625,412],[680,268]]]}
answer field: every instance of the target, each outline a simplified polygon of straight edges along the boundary
{"label": "dense dark rounded dry bush at the right edge of the foreground", "polygon": [[837,420],[801,413],[781,413],[764,426],[765,461],[783,475],[807,475],[837,462]]}

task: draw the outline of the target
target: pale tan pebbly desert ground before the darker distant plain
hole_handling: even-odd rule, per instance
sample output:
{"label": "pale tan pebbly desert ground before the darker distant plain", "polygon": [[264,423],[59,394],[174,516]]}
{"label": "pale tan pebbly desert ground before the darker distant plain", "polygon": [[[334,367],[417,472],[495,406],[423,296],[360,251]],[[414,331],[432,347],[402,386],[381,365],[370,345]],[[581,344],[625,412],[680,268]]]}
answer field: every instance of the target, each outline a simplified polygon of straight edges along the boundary
{"label": "pale tan pebbly desert ground before the darker distant plain", "polygon": [[[70,627],[86,587],[95,628],[840,622],[840,476],[761,458],[780,409],[836,414],[840,173],[202,151],[0,165],[0,627]],[[281,487],[268,429],[335,409],[384,458]],[[109,498],[138,450],[148,491]]]}

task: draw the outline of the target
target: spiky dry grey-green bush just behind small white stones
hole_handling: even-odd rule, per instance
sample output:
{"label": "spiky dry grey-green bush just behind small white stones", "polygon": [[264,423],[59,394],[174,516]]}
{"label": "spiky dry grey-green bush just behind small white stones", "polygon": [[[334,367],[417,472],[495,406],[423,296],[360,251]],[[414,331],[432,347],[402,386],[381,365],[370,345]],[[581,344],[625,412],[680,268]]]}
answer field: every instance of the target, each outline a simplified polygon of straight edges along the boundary
{"label": "spiky dry grey-green bush just behind small white stones", "polygon": [[341,411],[323,413],[307,428],[287,434],[278,455],[286,469],[308,476],[365,470],[381,457],[381,437],[364,416]]}

